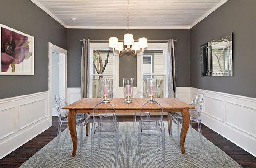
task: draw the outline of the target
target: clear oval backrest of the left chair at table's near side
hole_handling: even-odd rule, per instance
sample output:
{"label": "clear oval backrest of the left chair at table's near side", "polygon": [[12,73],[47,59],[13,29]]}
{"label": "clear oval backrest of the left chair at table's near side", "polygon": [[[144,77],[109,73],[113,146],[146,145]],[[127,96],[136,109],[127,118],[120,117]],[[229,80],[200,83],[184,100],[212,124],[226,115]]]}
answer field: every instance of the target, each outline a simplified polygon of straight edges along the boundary
{"label": "clear oval backrest of the left chair at table's near side", "polygon": [[[100,130],[109,130],[117,123],[115,108],[109,103],[99,103],[93,109],[93,122]],[[101,124],[103,123],[103,124]]]}

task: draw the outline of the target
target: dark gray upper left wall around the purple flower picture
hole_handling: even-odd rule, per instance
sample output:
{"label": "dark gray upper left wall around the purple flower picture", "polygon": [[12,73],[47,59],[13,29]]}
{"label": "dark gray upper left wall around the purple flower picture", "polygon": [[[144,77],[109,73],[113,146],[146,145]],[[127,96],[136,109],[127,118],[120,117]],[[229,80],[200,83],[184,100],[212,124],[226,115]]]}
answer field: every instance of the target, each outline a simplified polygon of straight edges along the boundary
{"label": "dark gray upper left wall around the purple flower picture", "polygon": [[35,37],[35,75],[1,75],[0,99],[48,90],[48,42],[67,47],[67,31],[30,0],[0,0],[0,23]]}

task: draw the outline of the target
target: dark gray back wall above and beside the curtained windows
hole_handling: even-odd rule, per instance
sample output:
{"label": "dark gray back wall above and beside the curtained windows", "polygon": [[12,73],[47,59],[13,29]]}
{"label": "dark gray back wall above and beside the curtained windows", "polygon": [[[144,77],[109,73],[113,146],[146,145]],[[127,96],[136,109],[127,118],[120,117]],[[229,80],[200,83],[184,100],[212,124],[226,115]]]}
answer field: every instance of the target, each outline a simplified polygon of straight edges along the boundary
{"label": "dark gray back wall above and beside the curtained windows", "polygon": [[[134,39],[177,39],[177,86],[189,87],[190,31],[189,29],[130,29]],[[80,39],[108,40],[111,36],[123,39],[125,29],[67,29],[67,87],[80,87],[81,51]],[[74,75],[76,74],[76,75]]]}

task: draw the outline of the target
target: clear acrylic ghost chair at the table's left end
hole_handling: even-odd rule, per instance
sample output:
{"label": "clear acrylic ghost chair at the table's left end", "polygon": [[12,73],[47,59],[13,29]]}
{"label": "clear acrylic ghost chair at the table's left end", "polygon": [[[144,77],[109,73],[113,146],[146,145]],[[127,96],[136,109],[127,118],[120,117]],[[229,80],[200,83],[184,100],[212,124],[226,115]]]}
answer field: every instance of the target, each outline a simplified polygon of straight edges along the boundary
{"label": "clear acrylic ghost chair at the table's left end", "polygon": [[[57,132],[57,140],[55,144],[55,150],[58,148],[58,143],[60,140],[61,126],[67,125],[67,132],[65,134],[64,140],[67,139],[67,134],[69,132],[68,129],[68,110],[63,110],[62,107],[67,106],[67,101],[62,95],[54,95],[55,106],[58,112],[58,132]],[[64,119],[62,119],[64,118]],[[87,113],[82,113],[76,116],[76,125],[79,126],[79,134],[80,134],[80,150],[82,150],[83,144],[83,126],[88,124],[87,132],[90,130],[90,115]]]}

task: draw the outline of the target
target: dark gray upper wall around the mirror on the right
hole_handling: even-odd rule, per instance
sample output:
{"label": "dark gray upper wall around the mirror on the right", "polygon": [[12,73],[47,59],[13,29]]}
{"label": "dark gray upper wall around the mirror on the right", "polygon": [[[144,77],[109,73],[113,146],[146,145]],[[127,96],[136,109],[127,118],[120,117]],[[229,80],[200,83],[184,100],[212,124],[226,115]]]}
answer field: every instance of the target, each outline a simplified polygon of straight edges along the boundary
{"label": "dark gray upper wall around the mirror on the right", "polygon": [[[256,0],[229,0],[190,29],[190,86],[256,98]],[[233,32],[231,77],[201,77],[200,45]]]}

